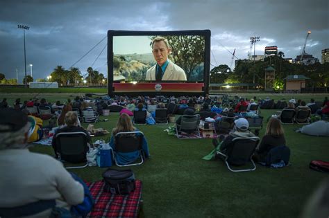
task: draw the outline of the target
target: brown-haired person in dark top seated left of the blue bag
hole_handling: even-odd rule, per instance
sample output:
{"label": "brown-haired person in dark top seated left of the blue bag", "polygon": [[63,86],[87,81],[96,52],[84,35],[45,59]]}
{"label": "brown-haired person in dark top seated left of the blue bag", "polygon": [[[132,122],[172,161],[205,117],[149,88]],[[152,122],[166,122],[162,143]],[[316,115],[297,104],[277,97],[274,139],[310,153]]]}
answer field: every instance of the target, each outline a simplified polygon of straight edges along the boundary
{"label": "brown-haired person in dark top seated left of the blue bag", "polygon": [[[65,126],[58,129],[56,131],[56,134],[53,136],[53,140],[51,142],[51,145],[53,146],[53,151],[55,152],[56,158],[58,158],[58,145],[56,144],[56,136],[60,132],[75,132],[75,131],[83,131],[85,134],[87,134],[87,142],[92,145],[92,139],[90,138],[90,134],[83,129],[83,127],[78,126],[78,116],[76,116],[76,113],[73,111],[68,111],[65,114]],[[85,147],[85,153],[87,154],[88,147]]]}

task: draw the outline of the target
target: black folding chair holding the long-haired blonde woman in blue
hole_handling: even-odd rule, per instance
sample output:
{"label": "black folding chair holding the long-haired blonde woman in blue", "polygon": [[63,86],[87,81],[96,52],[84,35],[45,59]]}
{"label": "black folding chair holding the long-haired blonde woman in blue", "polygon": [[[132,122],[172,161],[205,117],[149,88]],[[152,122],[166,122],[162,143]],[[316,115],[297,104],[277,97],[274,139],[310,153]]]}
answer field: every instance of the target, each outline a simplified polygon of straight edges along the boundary
{"label": "black folding chair holding the long-haired blonde woman in blue", "polygon": [[[115,134],[115,149],[113,151],[113,159],[115,164],[119,167],[127,167],[133,165],[141,165],[144,162],[144,152],[142,150],[142,140],[144,134],[142,131],[128,131],[128,132],[119,132]],[[117,154],[124,155],[125,153],[130,152],[139,152],[140,155],[135,158],[132,162],[127,162],[125,164],[119,164],[117,161]],[[137,159],[140,158],[140,162],[134,163]]]}

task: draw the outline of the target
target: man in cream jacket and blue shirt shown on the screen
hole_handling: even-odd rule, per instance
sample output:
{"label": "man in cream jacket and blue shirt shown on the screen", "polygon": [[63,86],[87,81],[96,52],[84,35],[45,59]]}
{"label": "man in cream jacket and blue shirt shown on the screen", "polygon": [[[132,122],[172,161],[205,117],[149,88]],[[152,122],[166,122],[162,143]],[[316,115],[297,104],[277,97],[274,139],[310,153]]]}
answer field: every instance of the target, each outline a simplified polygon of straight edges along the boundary
{"label": "man in cream jacket and blue shirt shown on the screen", "polygon": [[152,53],[157,64],[146,72],[145,80],[151,81],[186,81],[186,75],[180,66],[168,59],[171,52],[168,40],[164,37],[155,37],[152,41]]}

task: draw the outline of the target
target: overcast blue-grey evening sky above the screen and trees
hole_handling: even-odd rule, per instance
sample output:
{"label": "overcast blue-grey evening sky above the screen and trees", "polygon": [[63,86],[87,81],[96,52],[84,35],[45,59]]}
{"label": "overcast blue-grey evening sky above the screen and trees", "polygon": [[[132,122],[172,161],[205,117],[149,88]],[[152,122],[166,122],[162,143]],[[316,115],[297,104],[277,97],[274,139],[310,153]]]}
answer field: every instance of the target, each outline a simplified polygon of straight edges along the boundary
{"label": "overcast blue-grey evening sky above the screen and trees", "polygon": [[[57,65],[68,69],[107,30],[211,30],[211,64],[228,64],[232,55],[244,59],[249,37],[260,36],[256,54],[265,46],[278,46],[285,57],[301,53],[307,30],[312,33],[306,52],[321,59],[329,48],[328,0],[202,0],[202,1],[5,1],[0,0],[0,73],[24,76],[23,30],[26,64],[33,78],[46,78]],[[106,46],[103,40],[75,66],[85,73]],[[228,51],[227,51],[227,50]],[[92,66],[107,76],[106,49]],[[234,67],[234,64],[233,64]]]}

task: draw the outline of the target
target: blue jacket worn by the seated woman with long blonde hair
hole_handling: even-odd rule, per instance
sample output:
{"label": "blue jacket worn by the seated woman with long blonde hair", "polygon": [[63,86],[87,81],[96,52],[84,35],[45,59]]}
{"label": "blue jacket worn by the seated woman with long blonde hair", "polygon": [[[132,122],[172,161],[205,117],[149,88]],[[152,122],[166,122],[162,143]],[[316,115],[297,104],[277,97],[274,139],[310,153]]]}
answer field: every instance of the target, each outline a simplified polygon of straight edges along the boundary
{"label": "blue jacket worn by the seated woman with long blonde hair", "polygon": [[[136,129],[135,131],[139,131],[139,130]],[[115,150],[115,136],[113,135],[111,136],[110,147],[112,147],[113,151]],[[145,136],[142,137],[142,152],[144,152],[145,158],[148,158],[150,156],[149,146],[147,145]],[[115,152],[115,159],[117,160],[117,163],[121,165],[133,163],[139,156],[140,156],[139,151],[128,152],[128,153]]]}

